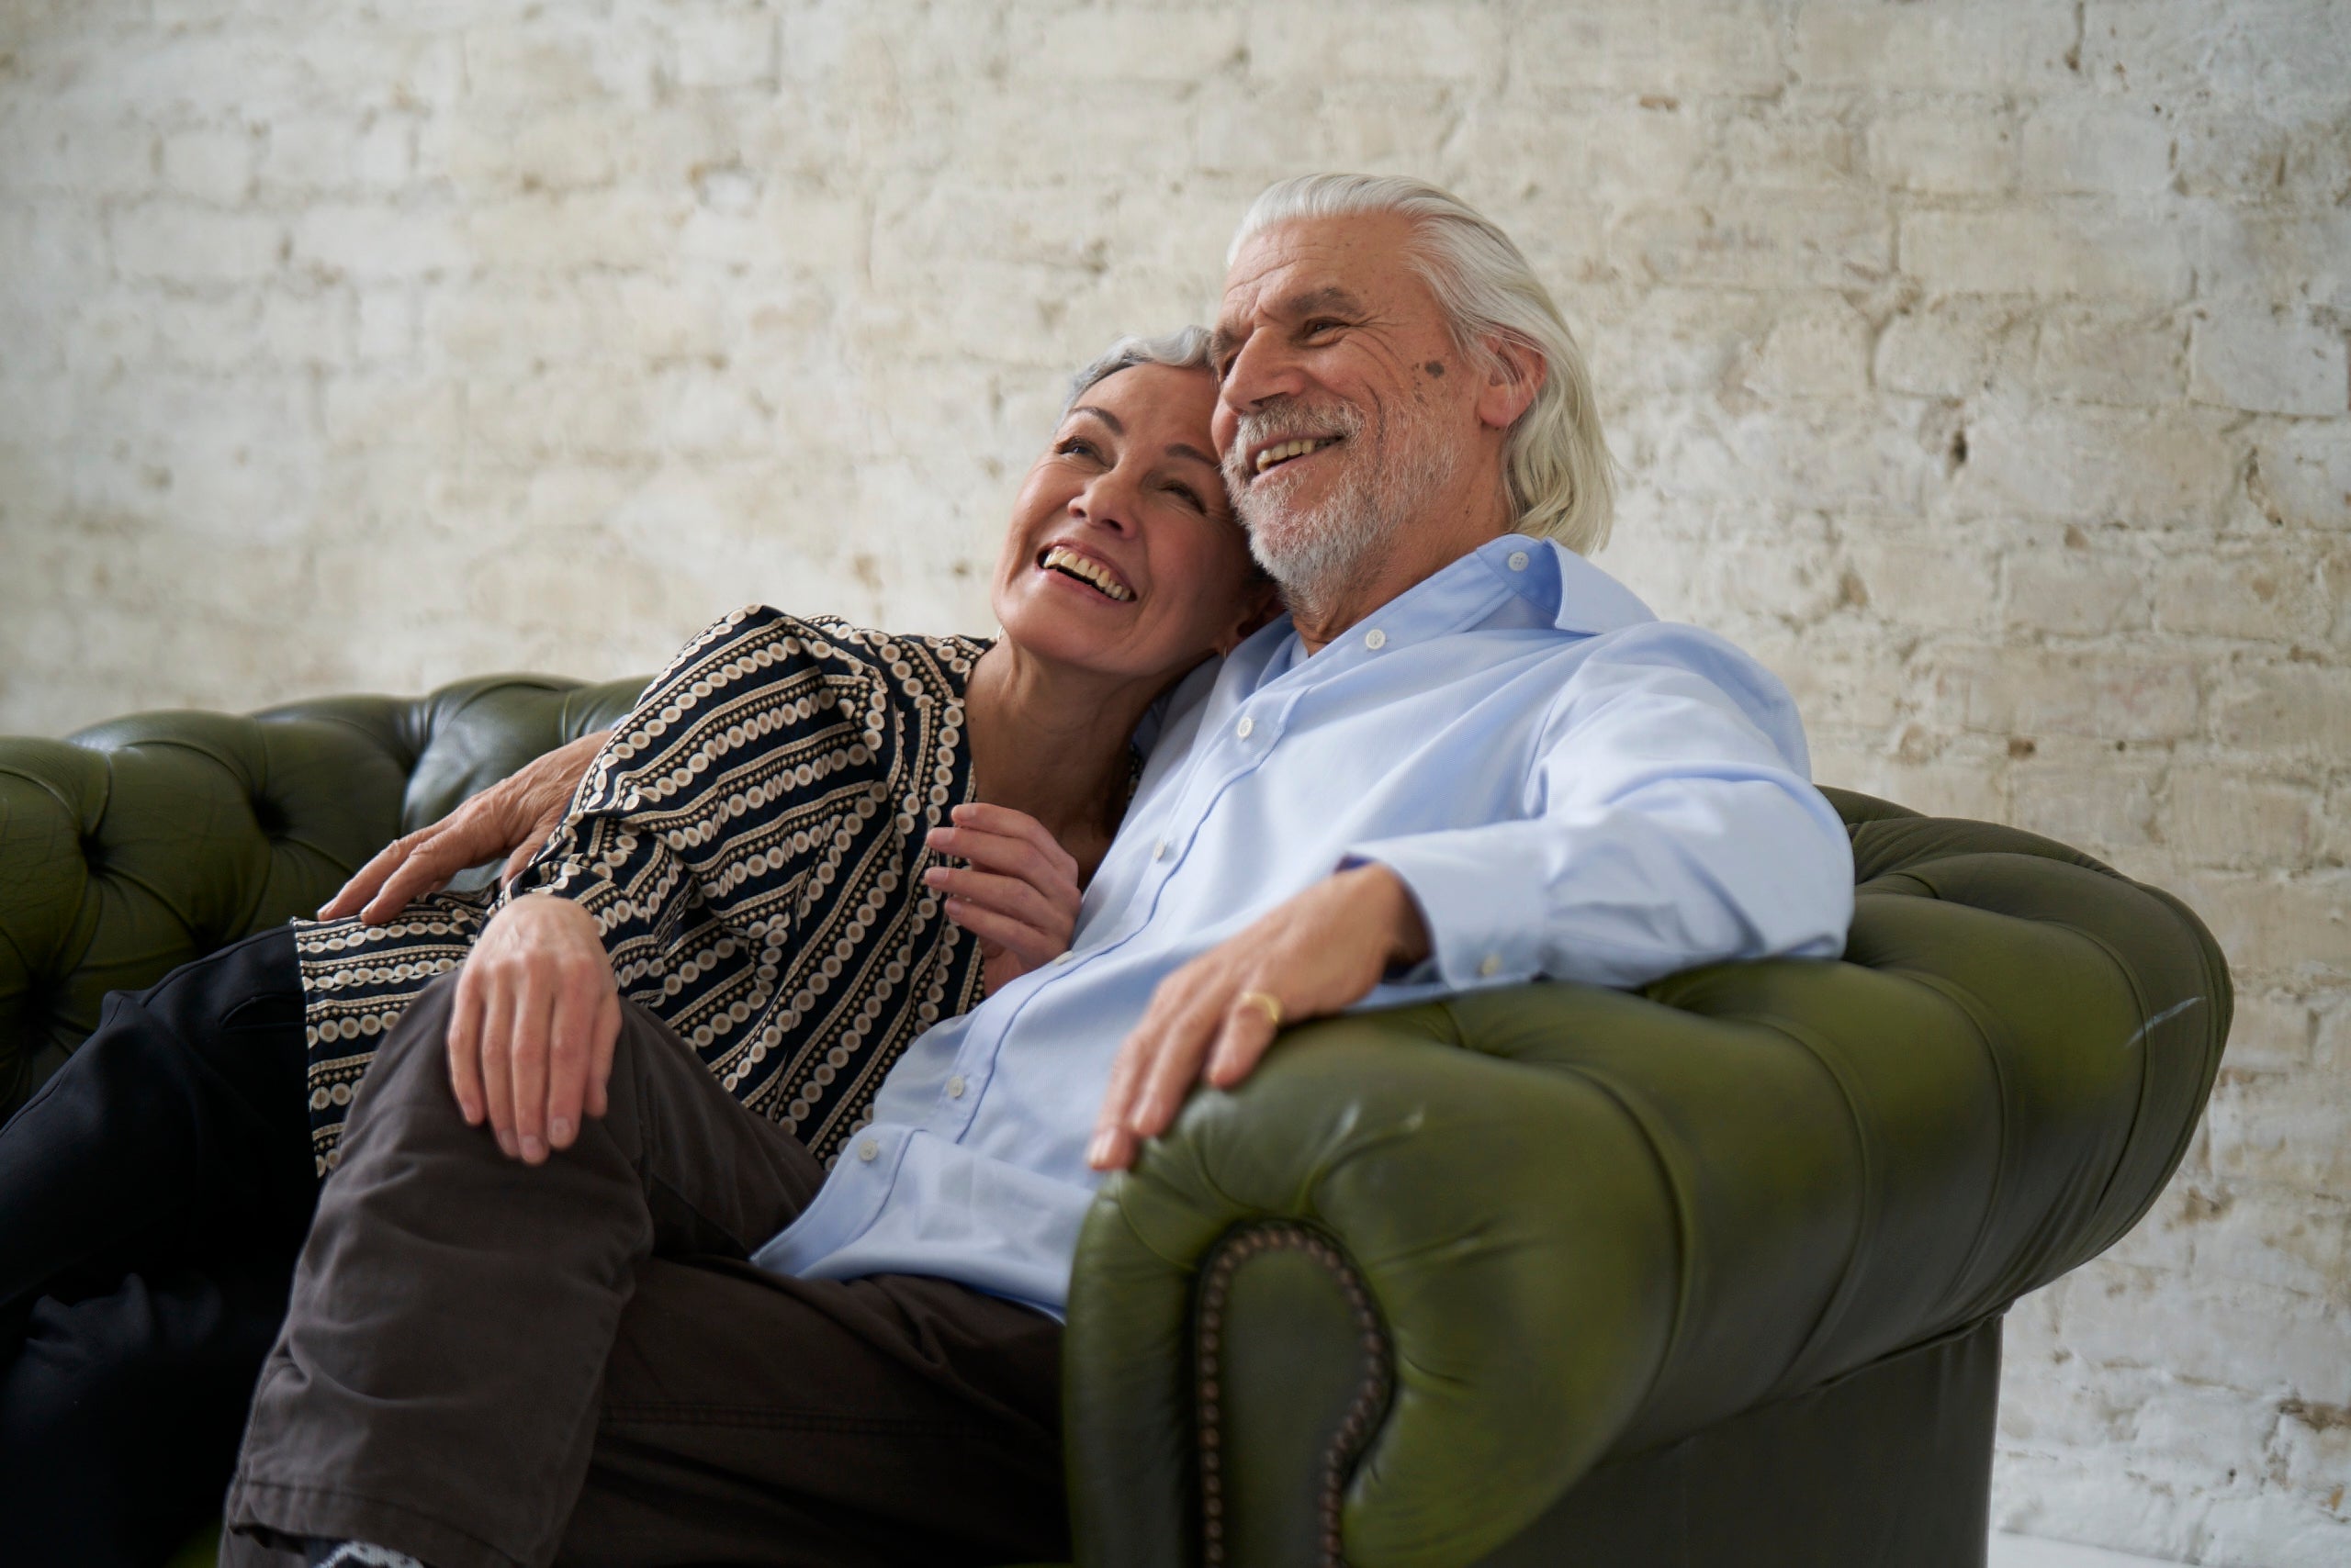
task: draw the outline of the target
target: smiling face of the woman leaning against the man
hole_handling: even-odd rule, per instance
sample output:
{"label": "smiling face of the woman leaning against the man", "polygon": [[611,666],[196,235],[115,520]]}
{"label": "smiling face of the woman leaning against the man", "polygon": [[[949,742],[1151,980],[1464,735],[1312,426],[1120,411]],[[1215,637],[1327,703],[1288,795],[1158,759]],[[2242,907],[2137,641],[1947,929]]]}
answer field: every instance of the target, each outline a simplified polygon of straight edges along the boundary
{"label": "smiling face of the woman leaning against the man", "polygon": [[1006,639],[1100,675],[1171,679],[1255,630],[1272,585],[1225,498],[1206,369],[1136,364],[1079,395],[1030,468],[997,559]]}

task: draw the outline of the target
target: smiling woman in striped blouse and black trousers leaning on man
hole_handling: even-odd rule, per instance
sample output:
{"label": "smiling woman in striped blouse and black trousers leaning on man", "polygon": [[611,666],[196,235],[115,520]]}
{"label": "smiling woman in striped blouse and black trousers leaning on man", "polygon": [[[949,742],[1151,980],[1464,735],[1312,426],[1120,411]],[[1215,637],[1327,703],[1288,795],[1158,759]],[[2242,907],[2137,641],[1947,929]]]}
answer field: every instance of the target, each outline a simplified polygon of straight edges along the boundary
{"label": "smiling woman in striped blouse and black trousers leaning on man", "polygon": [[1079,374],[1006,529],[999,639],[736,611],[503,891],[348,914],[428,867],[395,846],[329,919],[110,997],[0,1131],[9,1561],[150,1563],[216,1507],[343,1114],[435,976],[463,964],[458,1105],[517,1159],[602,1112],[616,1004],[585,966],[832,1157],[917,1032],[1065,950],[1152,703],[1272,609],[1213,407],[1197,329]]}

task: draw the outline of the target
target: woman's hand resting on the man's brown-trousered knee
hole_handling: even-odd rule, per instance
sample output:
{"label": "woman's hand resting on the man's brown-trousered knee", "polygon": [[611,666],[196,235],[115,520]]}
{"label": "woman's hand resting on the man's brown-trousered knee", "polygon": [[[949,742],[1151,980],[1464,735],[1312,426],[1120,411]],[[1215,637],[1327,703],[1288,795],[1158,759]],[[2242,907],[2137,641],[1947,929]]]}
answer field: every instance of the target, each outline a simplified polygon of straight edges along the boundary
{"label": "woman's hand resting on the man's brown-trousered knee", "polygon": [[569,898],[529,893],[498,910],[458,971],[449,1020],[449,1086],[468,1126],[489,1119],[524,1164],[578,1138],[604,1114],[621,990],[595,917]]}

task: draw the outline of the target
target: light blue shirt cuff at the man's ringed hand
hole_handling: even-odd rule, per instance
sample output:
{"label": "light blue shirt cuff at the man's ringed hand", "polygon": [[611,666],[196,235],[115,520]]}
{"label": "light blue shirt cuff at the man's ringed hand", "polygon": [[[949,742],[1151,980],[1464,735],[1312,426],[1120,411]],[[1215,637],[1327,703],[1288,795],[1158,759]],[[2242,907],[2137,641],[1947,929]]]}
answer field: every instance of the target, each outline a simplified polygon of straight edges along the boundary
{"label": "light blue shirt cuff at the man's ringed hand", "polygon": [[1420,924],[1429,931],[1429,961],[1406,980],[1441,980],[1448,990],[1512,985],[1542,973],[1542,886],[1533,867],[1495,867],[1479,835],[1422,832],[1375,839],[1347,851],[1347,865],[1378,863],[1396,872]]}

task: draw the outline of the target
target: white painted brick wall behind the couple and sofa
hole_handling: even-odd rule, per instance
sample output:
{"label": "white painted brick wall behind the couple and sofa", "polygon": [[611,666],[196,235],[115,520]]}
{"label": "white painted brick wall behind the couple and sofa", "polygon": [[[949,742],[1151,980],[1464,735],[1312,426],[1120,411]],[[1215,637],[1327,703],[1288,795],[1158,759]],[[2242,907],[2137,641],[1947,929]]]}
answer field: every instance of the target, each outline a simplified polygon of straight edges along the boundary
{"label": "white painted brick wall behind the couple and sofa", "polygon": [[1434,176],[1824,780],[2236,964],[2179,1180],[2012,1316],[2001,1523],[2351,1561],[2346,82],[2335,0],[14,0],[0,729],[983,628],[1065,369],[1267,179]]}

